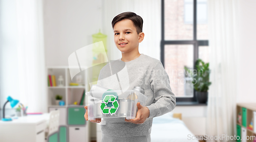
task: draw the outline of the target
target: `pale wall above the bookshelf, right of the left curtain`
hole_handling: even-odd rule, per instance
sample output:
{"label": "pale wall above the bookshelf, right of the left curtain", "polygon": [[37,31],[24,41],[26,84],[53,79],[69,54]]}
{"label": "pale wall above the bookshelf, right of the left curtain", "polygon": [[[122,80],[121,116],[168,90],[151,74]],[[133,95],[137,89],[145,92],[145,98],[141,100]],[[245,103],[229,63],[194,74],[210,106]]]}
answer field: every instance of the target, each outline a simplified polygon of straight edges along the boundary
{"label": "pale wall above the bookshelf, right of the left curtain", "polygon": [[102,24],[101,1],[46,0],[44,4],[46,65],[68,66],[68,57],[92,44]]}

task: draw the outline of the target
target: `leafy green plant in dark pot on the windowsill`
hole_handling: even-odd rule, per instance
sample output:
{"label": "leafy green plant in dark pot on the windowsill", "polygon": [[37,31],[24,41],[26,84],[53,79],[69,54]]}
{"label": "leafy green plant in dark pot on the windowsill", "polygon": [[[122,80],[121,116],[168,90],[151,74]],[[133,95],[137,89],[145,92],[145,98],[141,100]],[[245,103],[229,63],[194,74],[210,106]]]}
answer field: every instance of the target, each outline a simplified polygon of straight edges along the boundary
{"label": "leafy green plant in dark pot on the windowsill", "polygon": [[198,103],[206,103],[208,99],[208,89],[211,84],[209,82],[210,69],[209,63],[204,63],[201,59],[196,61],[196,69],[190,70],[184,67],[186,72],[193,78],[192,83],[196,90],[196,98]]}

